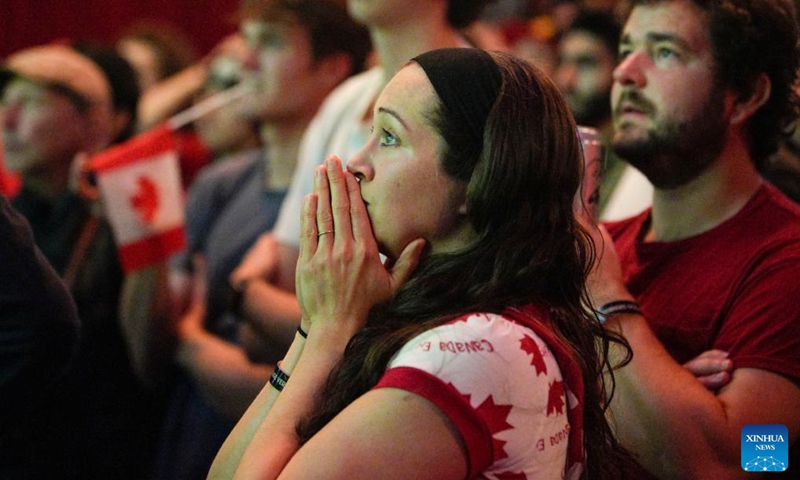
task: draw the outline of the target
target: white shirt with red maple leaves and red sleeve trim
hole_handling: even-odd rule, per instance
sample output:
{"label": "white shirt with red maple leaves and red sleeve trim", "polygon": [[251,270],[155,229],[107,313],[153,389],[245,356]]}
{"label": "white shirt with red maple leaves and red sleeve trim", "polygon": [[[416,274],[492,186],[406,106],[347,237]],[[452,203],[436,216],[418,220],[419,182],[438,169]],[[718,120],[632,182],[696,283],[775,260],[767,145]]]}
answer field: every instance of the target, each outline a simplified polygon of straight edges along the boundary
{"label": "white shirt with red maple leaves and red sleeve trim", "polygon": [[462,436],[469,478],[577,479],[583,469],[580,373],[537,313],[475,313],[428,330],[376,386],[440,408]]}

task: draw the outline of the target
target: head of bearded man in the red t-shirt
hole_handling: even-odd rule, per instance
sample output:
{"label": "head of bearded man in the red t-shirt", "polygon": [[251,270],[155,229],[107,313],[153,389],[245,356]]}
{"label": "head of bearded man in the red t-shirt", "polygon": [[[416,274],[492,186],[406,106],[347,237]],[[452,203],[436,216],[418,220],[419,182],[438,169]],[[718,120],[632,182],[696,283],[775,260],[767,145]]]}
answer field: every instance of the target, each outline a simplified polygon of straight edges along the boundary
{"label": "head of bearded man in the red t-shirt", "polygon": [[635,0],[612,93],[615,151],[661,188],[686,183],[731,132],[756,165],[796,118],[790,0]]}

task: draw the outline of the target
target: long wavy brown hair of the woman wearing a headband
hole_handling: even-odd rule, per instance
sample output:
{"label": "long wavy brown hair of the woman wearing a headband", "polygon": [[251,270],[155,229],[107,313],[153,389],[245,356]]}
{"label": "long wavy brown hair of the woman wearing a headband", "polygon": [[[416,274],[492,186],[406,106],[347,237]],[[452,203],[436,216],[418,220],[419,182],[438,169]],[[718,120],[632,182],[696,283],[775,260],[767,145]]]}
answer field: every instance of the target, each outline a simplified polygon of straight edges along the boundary
{"label": "long wavy brown hair of the woman wearing a headband", "polygon": [[544,73],[510,55],[491,55],[502,86],[482,147],[470,151],[475,142],[441,103],[428,117],[446,145],[443,169],[464,182],[467,215],[479,240],[456,253],[424,258],[395,298],[371,310],[298,434],[307,441],[372,388],[392,355],[419,333],[469,312],[536,304],[549,310],[586,385],[584,477],[619,478],[627,454],[605,417],[613,376],[606,383],[604,372],[612,370],[610,344],[628,346],[603,329],[586,294],[594,244],[573,211],[583,174],[576,126]]}

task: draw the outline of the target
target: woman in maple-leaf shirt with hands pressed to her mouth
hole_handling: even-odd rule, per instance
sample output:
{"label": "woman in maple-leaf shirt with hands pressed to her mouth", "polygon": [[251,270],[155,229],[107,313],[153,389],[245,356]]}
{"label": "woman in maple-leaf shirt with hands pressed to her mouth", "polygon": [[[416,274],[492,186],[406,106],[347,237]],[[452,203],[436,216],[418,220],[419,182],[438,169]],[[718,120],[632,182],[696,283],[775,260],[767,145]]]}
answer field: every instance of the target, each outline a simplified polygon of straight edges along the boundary
{"label": "woman in maple-leaf shirt with hands pressed to her mouth", "polygon": [[582,157],[555,85],[511,55],[435,50],[373,127],[347,172],[315,171],[301,330],[209,477],[615,478],[599,382],[619,340],[586,303]]}

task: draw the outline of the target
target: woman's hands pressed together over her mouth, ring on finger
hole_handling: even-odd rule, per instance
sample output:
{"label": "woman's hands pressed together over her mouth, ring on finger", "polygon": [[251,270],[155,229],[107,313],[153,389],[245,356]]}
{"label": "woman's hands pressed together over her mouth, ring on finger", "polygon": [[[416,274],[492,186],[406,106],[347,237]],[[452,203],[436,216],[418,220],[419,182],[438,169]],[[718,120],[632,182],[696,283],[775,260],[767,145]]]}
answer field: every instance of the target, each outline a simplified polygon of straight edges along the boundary
{"label": "woman's hands pressed together over her mouth, ring on finger", "polygon": [[381,261],[357,178],[331,156],[304,199],[297,297],[307,332],[331,326],[345,342],[374,305],[392,298],[417,266],[425,240]]}

